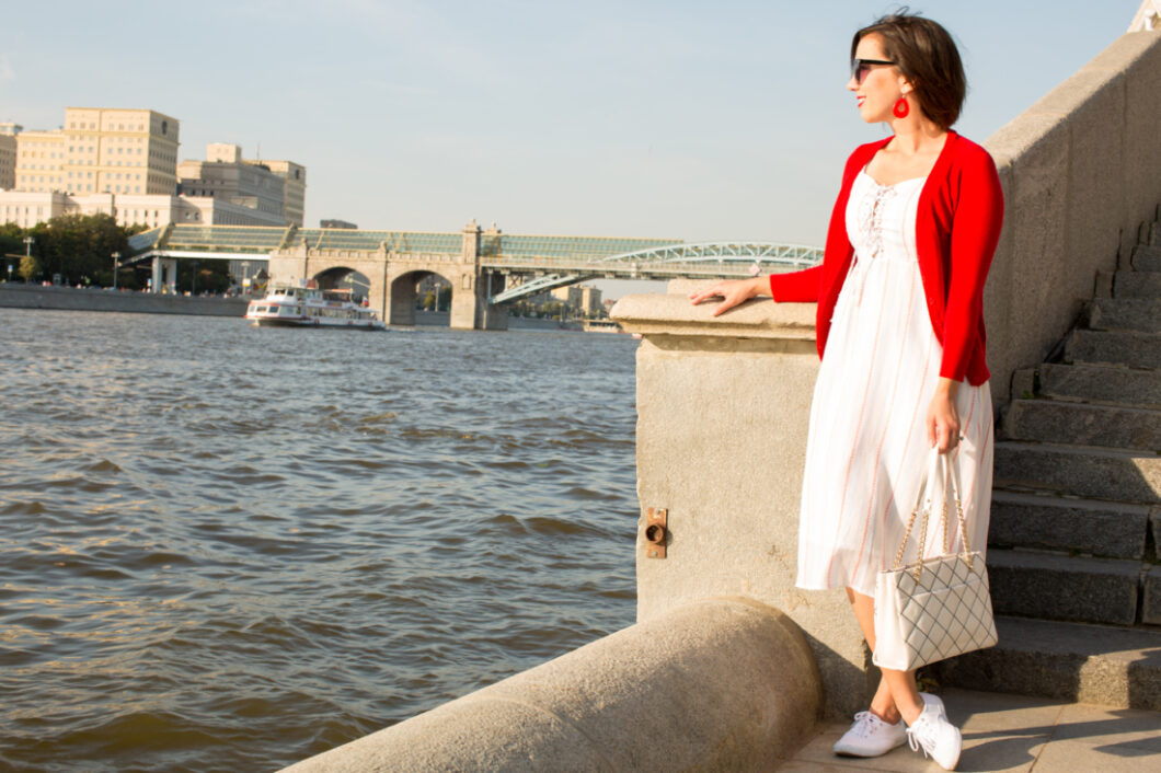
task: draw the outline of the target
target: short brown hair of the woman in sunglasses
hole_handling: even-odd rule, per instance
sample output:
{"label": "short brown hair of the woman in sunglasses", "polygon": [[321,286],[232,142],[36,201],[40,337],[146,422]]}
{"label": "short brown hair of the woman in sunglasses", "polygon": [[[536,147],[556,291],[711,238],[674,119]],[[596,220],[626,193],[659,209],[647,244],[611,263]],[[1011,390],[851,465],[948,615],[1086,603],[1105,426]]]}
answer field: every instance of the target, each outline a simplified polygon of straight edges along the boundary
{"label": "short brown hair of the woman in sunglasses", "polygon": [[859,41],[872,34],[882,38],[884,56],[895,62],[910,81],[923,114],[940,129],[950,129],[959,118],[967,95],[964,63],[951,34],[930,19],[902,8],[854,32],[852,64]]}

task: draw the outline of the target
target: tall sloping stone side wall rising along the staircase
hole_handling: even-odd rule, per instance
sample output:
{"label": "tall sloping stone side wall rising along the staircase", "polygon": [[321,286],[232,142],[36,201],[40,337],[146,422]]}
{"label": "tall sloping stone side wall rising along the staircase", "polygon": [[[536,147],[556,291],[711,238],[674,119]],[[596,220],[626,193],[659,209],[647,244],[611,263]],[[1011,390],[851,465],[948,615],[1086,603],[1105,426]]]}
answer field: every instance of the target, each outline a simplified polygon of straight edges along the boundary
{"label": "tall sloping stone side wall rising along the staircase", "polygon": [[985,142],[1005,223],[985,295],[996,405],[1127,266],[1161,202],[1161,32],[1120,36]]}

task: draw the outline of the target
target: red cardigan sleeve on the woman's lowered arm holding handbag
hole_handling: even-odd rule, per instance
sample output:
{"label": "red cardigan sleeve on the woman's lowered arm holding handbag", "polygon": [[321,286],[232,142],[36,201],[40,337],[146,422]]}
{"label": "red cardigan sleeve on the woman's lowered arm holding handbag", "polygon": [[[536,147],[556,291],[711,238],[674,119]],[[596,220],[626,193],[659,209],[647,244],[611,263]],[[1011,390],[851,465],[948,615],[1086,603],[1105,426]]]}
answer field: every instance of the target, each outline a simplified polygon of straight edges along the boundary
{"label": "red cardigan sleeve on the woman's lowered arm holding handbag", "polygon": [[947,306],[939,375],[962,381],[983,330],[983,283],[1000,241],[1004,194],[995,161],[982,147],[960,168],[951,226]]}

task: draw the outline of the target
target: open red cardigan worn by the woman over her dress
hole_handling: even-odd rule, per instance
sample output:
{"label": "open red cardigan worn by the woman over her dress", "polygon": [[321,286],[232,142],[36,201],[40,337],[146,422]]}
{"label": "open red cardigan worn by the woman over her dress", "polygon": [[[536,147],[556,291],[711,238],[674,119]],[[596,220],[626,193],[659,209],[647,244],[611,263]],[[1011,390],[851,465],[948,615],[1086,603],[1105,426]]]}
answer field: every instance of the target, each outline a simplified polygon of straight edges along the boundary
{"label": "open red cardigan worn by the woman over her dress", "polygon": [[[846,160],[843,187],[830,216],[822,265],[789,274],[771,274],[774,301],[819,304],[819,356],[827,347],[830,318],[838,302],[854,247],[846,237],[846,201],[856,175],[892,140],[860,145]],[[954,131],[936,159],[920,193],[915,244],[931,327],[943,346],[939,375],[973,385],[990,375],[985,362],[983,282],[1000,241],[1004,195],[988,151]]]}

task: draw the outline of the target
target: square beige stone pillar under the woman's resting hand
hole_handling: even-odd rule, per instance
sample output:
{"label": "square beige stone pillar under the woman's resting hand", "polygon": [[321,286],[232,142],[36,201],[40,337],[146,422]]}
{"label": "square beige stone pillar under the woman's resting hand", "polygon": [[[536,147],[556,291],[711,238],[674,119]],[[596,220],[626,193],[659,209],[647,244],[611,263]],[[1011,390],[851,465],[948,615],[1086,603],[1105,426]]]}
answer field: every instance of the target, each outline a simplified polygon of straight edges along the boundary
{"label": "square beige stone pillar under the woman's resting hand", "polygon": [[637,552],[637,620],[714,595],[769,604],[806,633],[828,713],[861,710],[874,674],[845,592],[794,587],[815,305],[758,301],[713,317],[713,304],[690,305],[691,286],[675,289],[627,296],[612,311],[643,335],[641,523],[646,508],[669,511],[668,557]]}

